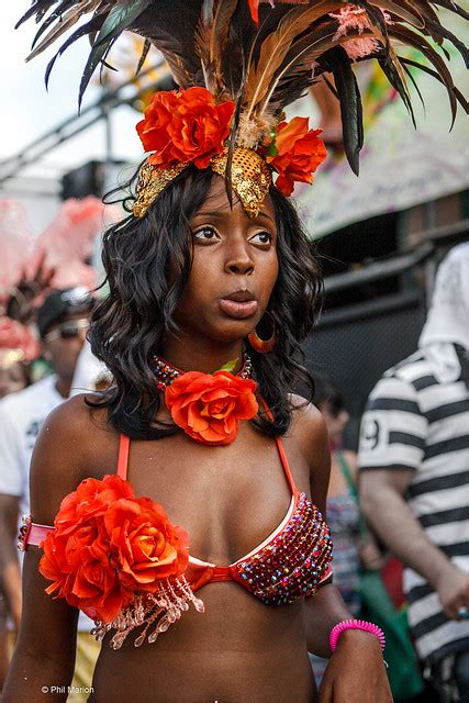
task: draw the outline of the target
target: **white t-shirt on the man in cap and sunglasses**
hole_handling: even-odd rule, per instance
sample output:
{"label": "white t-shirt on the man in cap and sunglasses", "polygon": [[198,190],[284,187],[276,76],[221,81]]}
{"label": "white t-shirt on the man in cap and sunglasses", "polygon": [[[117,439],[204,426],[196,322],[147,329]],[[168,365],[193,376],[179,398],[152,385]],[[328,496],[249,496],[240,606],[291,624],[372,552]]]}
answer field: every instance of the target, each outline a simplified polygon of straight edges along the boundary
{"label": "white t-shirt on the man in cap and sunglasses", "polygon": [[[20,499],[20,513],[30,511],[30,464],[34,443],[47,415],[64,402],[56,377],[33,383],[0,401],[0,493]],[[21,558],[20,554],[20,558]],[[90,631],[93,622],[80,612],[79,631]]]}

